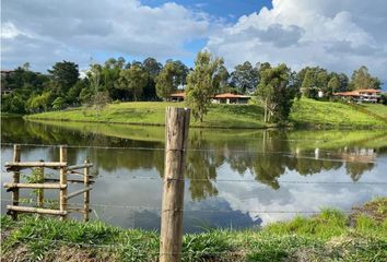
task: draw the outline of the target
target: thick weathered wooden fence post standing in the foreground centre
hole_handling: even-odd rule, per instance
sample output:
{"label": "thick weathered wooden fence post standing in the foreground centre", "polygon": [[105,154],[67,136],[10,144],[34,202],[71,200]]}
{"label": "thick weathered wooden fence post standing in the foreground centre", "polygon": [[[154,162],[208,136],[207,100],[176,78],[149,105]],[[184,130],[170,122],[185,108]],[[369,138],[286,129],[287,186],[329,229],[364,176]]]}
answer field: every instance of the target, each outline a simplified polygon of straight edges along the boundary
{"label": "thick weathered wooden fence post standing in the foreground centre", "polygon": [[167,107],[160,261],[181,259],[184,172],[190,109]]}

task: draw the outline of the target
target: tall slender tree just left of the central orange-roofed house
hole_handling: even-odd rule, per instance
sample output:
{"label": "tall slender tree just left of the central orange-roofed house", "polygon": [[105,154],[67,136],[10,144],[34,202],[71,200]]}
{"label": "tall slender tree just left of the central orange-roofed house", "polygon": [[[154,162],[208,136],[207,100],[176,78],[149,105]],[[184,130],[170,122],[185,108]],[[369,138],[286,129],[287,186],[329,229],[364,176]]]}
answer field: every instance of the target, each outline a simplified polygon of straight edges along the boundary
{"label": "tall slender tree just left of the central orange-roofed house", "polygon": [[220,68],[223,59],[214,58],[210,52],[199,52],[195,60],[195,69],[187,78],[187,104],[192,108],[192,116],[200,122],[208,112],[211,98],[219,90]]}

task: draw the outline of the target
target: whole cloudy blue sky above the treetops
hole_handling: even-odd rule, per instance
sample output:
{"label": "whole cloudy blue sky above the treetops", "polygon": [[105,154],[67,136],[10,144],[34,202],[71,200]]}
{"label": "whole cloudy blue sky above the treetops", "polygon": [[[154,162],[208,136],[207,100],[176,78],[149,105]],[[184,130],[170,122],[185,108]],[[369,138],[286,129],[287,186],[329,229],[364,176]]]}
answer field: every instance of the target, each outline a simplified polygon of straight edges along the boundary
{"label": "whole cloudy blue sky above the treetops", "polygon": [[46,72],[70,60],[86,69],[110,57],[179,59],[198,51],[232,69],[285,62],[351,74],[366,66],[387,82],[385,0],[4,0],[1,68]]}

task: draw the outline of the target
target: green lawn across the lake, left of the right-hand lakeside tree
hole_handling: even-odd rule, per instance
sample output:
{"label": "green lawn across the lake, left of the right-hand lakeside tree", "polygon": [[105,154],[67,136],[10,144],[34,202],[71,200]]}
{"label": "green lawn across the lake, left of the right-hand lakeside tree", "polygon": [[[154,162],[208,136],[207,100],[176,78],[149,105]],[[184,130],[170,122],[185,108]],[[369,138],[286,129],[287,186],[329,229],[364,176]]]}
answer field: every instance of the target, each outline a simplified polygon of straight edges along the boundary
{"label": "green lawn across the lake, left of the right-hand lakeside tree", "polygon": [[[30,119],[90,121],[110,123],[164,124],[167,106],[184,107],[181,103],[138,102],[110,104],[99,115],[94,109],[77,108],[27,116]],[[262,108],[247,105],[212,105],[203,122],[191,119],[192,127],[262,128]]]}

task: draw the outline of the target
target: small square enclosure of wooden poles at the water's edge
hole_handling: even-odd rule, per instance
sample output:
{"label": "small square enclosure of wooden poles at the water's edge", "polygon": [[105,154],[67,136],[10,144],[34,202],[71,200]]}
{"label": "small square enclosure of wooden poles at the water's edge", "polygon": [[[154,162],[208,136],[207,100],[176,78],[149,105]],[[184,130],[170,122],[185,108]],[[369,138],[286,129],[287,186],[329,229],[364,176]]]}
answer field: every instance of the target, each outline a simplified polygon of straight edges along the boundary
{"label": "small square enclosure of wooden poles at the water's edge", "polygon": [[[12,192],[12,205],[7,205],[8,213],[12,215],[13,219],[17,218],[17,213],[58,215],[60,219],[66,219],[69,212],[80,212],[83,213],[84,221],[89,221],[90,190],[92,190],[90,184],[94,182],[90,179],[92,166],[93,164],[87,159],[83,164],[69,166],[66,145],[59,147],[59,162],[21,162],[21,146],[15,144],[13,146],[13,162],[5,163],[7,170],[13,172],[13,181],[4,183],[7,191]],[[21,182],[21,170],[28,168],[36,170],[34,181]],[[45,178],[45,168],[59,170],[59,178]],[[83,169],[83,171],[79,171],[79,169]],[[83,179],[68,179],[69,175],[82,176]],[[69,183],[82,183],[84,187],[69,193]],[[20,200],[20,189],[36,190],[36,206],[21,206],[23,201]],[[59,190],[59,209],[45,207],[44,190]],[[83,209],[70,209],[68,201],[82,193]]]}

